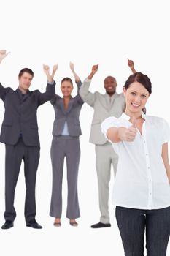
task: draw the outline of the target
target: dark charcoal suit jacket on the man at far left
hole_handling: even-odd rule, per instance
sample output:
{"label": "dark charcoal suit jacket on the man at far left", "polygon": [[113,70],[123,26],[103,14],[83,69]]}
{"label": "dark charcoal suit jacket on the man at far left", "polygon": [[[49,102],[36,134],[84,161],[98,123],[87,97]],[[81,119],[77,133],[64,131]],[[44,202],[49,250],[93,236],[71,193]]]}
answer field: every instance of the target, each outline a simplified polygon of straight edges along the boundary
{"label": "dark charcoal suit jacket on the man at far left", "polygon": [[36,110],[55,95],[55,83],[47,84],[45,93],[39,90],[21,93],[4,88],[0,83],[0,98],[4,101],[4,121],[1,126],[1,143],[15,145],[20,135],[26,146],[39,146]]}

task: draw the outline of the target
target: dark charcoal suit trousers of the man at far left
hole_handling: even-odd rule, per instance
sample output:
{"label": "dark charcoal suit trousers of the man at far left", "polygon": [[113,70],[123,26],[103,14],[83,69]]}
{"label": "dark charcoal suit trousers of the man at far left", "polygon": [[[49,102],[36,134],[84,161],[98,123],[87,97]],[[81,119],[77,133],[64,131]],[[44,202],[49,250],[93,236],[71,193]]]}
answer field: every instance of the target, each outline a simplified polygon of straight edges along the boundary
{"label": "dark charcoal suit trousers of the man at far left", "polygon": [[15,187],[18,181],[21,162],[24,162],[26,181],[25,218],[26,222],[36,215],[35,184],[36,170],[39,165],[39,147],[26,146],[20,138],[15,146],[6,145],[5,153],[5,220],[14,221]]}

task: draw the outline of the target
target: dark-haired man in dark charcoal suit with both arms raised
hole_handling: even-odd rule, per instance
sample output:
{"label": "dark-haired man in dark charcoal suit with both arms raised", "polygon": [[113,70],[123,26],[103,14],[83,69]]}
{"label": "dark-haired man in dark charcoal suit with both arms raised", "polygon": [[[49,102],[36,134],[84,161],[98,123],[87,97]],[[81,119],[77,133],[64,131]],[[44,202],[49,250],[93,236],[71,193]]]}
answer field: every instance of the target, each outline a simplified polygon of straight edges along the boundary
{"label": "dark-haired man in dark charcoal suit with both arms raised", "polygon": [[[7,56],[0,50],[0,63]],[[53,69],[55,72],[57,67]],[[55,95],[55,82],[49,68],[44,66],[48,83],[45,93],[39,90],[29,91],[34,72],[25,68],[18,75],[19,86],[16,91],[4,88],[0,83],[0,98],[4,102],[4,121],[1,126],[0,142],[5,144],[5,223],[2,229],[13,227],[16,217],[14,208],[15,187],[18,181],[20,165],[24,162],[26,179],[25,219],[26,226],[42,228],[36,222],[36,170],[39,164],[39,135],[36,111]]]}

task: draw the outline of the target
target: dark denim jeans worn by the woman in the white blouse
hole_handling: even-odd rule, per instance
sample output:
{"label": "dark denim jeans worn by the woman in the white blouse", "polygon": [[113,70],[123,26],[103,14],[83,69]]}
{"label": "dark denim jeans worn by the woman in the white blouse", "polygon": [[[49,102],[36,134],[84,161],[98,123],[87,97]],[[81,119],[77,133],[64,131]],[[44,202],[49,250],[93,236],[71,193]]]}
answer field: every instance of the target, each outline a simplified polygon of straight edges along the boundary
{"label": "dark denim jeans worn by the woman in the white blouse", "polygon": [[145,229],[147,256],[166,256],[170,234],[170,207],[139,210],[117,206],[116,219],[125,256],[144,255]]}

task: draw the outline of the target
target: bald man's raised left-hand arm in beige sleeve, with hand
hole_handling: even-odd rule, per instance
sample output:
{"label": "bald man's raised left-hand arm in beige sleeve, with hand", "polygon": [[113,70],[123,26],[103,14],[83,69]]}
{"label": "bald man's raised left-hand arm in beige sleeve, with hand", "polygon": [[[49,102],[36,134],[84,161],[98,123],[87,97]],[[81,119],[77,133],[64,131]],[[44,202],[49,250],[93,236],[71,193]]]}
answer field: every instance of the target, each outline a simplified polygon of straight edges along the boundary
{"label": "bald man's raised left-hand arm in beige sleeve, with hand", "polygon": [[92,92],[90,92],[89,87],[90,87],[91,79],[93,78],[93,75],[97,72],[97,70],[98,70],[98,65],[94,65],[92,67],[90,75],[88,75],[88,78],[84,80],[79,91],[80,96],[82,97],[82,100],[88,103],[88,105],[90,105],[91,107],[93,107],[94,102],[96,100],[96,96],[95,96],[96,94],[93,94]]}

